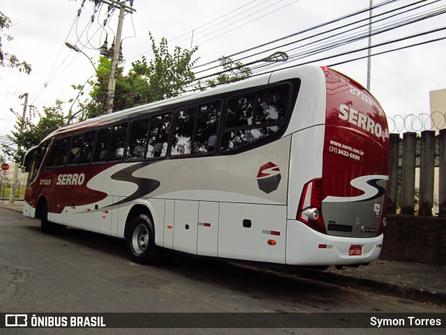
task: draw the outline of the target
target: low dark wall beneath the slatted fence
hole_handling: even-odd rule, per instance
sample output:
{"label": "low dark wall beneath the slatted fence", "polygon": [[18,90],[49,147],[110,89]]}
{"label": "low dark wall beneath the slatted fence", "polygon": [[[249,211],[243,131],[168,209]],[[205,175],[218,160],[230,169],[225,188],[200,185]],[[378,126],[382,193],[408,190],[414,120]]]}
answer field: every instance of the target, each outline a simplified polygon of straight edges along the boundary
{"label": "low dark wall beneath the slatted fence", "polygon": [[387,215],[382,260],[446,265],[446,218]]}

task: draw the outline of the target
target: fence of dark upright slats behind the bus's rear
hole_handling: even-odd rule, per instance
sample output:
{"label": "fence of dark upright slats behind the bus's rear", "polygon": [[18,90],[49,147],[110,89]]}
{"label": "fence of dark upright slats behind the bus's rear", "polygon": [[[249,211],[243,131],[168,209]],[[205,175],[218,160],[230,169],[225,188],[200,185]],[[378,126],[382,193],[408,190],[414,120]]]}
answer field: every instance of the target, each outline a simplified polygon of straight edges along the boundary
{"label": "fence of dark upright slats behind the bus's rear", "polygon": [[446,129],[390,134],[387,187],[387,214],[446,217]]}

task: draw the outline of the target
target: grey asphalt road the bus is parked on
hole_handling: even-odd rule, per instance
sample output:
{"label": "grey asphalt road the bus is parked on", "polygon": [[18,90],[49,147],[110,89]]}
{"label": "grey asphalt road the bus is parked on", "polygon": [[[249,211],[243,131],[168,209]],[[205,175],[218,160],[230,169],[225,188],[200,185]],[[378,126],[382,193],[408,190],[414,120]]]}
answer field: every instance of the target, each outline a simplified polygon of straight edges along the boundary
{"label": "grey asphalt road the bus is parked on", "polygon": [[[0,209],[0,313],[106,312],[379,314],[445,313],[446,308],[175,253],[165,255],[159,265],[137,265],[128,260],[121,239],[70,228],[63,234],[46,235],[40,232],[39,221]],[[3,330],[17,334],[17,329],[0,329],[0,333],[6,334]],[[213,329],[212,334],[229,334],[229,330],[231,334],[259,334],[252,329]],[[380,330],[388,331],[386,334],[445,334],[444,328]],[[21,331],[20,334],[141,334],[141,329]],[[171,329],[151,332],[172,334]],[[357,329],[264,330],[264,334],[337,332],[357,334]],[[360,332],[374,334],[374,329]],[[182,329],[178,334],[210,332]]]}

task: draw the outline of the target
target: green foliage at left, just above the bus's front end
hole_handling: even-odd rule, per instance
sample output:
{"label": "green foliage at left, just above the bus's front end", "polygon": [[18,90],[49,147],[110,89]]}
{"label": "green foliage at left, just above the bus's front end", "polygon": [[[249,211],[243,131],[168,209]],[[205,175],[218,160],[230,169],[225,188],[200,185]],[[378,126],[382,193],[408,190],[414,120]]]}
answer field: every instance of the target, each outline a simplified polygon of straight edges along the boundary
{"label": "green foliage at left, just above the bus's front end", "polygon": [[[36,111],[32,106],[30,110],[29,116],[24,121],[22,121],[22,116],[19,113],[11,110],[17,117],[17,121],[15,121],[14,130],[6,137],[10,142],[13,142],[14,146],[8,147],[1,144],[3,151],[8,156],[13,157],[13,161],[19,163],[23,162],[26,151],[38,145],[44,137],[66,124],[61,101],[56,101],[54,107],[43,107],[43,114]],[[38,119],[36,123],[33,121],[35,119]],[[19,151],[17,151],[17,147],[20,147]]]}

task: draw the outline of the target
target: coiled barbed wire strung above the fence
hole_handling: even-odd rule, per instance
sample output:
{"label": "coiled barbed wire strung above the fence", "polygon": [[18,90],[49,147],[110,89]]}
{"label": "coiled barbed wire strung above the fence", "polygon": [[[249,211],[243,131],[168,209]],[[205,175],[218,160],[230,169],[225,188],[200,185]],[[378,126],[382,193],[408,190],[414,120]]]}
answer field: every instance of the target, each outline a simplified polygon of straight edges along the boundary
{"label": "coiled barbed wire strung above the fence", "polygon": [[430,131],[446,128],[446,112],[435,111],[431,114],[407,114],[387,117],[390,133],[406,133],[408,131]]}

